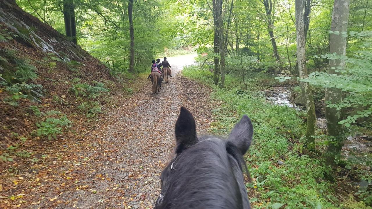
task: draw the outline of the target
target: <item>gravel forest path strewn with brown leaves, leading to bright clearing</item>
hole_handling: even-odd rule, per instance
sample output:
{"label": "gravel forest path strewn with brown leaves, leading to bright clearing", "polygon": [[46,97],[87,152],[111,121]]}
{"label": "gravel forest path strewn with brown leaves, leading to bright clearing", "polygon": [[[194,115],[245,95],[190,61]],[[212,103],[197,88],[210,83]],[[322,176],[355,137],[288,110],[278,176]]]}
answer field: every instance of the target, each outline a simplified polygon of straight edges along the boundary
{"label": "gravel forest path strewn with brown leaves, leading to bright clearing", "polygon": [[153,208],[160,194],[159,176],[170,160],[174,125],[181,106],[196,119],[198,134],[211,122],[210,89],[182,77],[194,55],[168,58],[173,77],[159,94],[143,89],[97,124],[88,147],[61,159],[61,167],[40,179],[25,208]]}

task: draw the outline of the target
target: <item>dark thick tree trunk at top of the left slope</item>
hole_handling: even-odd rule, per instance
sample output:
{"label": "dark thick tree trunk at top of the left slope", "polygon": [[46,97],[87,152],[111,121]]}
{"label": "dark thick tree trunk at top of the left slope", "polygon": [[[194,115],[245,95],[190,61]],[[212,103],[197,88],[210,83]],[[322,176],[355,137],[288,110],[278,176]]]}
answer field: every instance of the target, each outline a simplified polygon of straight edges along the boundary
{"label": "dark thick tree trunk at top of the left slope", "polygon": [[63,0],[63,16],[66,36],[77,44],[75,4],[73,0]]}

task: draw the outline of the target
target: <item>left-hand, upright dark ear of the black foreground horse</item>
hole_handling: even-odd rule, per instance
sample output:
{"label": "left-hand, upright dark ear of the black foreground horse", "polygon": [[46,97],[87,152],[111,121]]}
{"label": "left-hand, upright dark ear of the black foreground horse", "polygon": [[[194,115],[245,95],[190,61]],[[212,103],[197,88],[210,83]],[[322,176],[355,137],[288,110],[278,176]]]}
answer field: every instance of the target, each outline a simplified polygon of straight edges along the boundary
{"label": "left-hand, upright dark ear of the black foreground horse", "polygon": [[198,143],[196,137],[195,119],[185,107],[181,107],[180,115],[176,122],[176,154]]}

